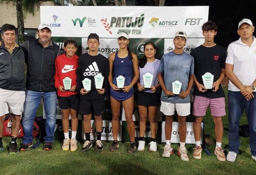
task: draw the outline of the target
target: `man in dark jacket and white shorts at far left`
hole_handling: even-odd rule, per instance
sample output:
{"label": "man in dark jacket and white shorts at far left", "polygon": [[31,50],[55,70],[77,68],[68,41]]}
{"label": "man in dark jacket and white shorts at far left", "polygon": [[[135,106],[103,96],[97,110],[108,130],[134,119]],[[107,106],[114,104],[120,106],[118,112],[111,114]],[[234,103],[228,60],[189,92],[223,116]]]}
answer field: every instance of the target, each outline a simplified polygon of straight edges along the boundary
{"label": "man in dark jacket and white shorts at far left", "polygon": [[[15,42],[17,29],[10,24],[1,28],[3,42],[0,44],[0,151],[3,150],[3,122],[5,114],[11,113],[11,142],[9,154],[18,153],[16,139],[21,126],[20,117],[25,101],[24,51]],[[9,111],[9,109],[10,111]]]}

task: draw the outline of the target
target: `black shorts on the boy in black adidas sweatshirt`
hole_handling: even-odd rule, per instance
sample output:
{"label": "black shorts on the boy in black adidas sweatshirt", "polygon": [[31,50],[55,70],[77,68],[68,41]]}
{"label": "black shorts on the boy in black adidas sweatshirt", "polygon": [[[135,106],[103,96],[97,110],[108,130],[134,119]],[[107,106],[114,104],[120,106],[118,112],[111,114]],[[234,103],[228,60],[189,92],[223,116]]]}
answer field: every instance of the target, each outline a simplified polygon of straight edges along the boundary
{"label": "black shorts on the boy in black adidas sweatshirt", "polygon": [[105,112],[105,100],[87,100],[80,98],[79,111],[82,115],[93,113],[93,115],[100,116]]}

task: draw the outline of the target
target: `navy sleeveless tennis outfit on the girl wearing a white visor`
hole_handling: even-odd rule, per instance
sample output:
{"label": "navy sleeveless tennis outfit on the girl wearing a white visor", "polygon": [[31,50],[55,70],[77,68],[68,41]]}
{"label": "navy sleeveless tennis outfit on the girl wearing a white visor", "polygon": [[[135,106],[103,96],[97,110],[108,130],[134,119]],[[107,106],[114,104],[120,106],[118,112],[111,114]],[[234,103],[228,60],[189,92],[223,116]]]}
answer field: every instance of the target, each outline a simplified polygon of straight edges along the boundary
{"label": "navy sleeveless tennis outfit on the girl wearing a white visor", "polygon": [[[122,75],[123,77],[125,77],[124,85],[127,86],[132,81],[133,63],[132,63],[132,60],[130,60],[129,54],[125,58],[119,58],[117,54],[118,54],[118,51],[116,52],[115,60],[114,60],[113,83],[117,85],[116,78],[119,75]],[[127,99],[131,98],[133,93],[134,93],[133,87],[130,89],[130,91],[128,93],[126,93],[124,91],[114,91],[112,88],[110,88],[110,95],[114,99],[120,100],[120,101],[127,100]]]}

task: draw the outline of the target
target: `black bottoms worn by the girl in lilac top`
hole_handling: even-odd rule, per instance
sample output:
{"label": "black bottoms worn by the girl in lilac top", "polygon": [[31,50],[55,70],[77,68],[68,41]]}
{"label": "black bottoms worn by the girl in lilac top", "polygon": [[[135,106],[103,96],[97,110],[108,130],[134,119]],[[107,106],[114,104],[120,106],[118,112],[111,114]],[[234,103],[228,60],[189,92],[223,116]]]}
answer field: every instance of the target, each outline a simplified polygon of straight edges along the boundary
{"label": "black bottoms worn by the girl in lilac top", "polygon": [[138,91],[137,105],[140,106],[158,106],[160,105],[161,93],[149,93]]}

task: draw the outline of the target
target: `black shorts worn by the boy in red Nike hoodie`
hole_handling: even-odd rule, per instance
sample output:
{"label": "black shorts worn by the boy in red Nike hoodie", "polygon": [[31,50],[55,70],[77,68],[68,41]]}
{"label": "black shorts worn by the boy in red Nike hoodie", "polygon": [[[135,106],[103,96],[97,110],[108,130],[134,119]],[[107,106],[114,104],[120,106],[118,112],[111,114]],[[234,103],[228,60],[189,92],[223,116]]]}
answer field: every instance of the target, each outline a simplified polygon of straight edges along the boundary
{"label": "black shorts worn by the boy in red Nike hoodie", "polygon": [[78,110],[79,95],[71,95],[68,97],[59,96],[59,107],[61,109],[74,109]]}

